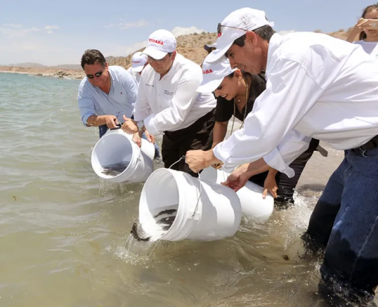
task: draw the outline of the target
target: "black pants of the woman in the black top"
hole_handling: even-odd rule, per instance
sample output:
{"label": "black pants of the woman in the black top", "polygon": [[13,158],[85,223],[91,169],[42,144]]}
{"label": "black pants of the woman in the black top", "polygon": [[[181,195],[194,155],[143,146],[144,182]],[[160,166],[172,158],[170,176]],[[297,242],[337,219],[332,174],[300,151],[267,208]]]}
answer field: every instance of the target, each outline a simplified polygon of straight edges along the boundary
{"label": "black pants of the woman in the black top", "polygon": [[[276,182],[278,185],[277,198],[275,199],[275,204],[277,206],[286,207],[288,204],[294,203],[293,194],[294,188],[296,187],[300,175],[303,172],[304,167],[306,166],[307,161],[311,158],[313,152],[319,145],[318,139],[311,139],[310,144],[306,151],[303,152],[293,163],[290,164],[290,167],[294,170],[295,175],[292,178],[287,177],[285,174],[277,172]],[[259,186],[264,186],[264,181],[267,178],[268,172],[257,174],[249,178],[249,181],[258,184]]]}

